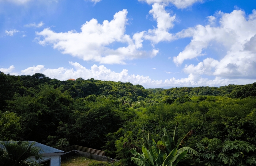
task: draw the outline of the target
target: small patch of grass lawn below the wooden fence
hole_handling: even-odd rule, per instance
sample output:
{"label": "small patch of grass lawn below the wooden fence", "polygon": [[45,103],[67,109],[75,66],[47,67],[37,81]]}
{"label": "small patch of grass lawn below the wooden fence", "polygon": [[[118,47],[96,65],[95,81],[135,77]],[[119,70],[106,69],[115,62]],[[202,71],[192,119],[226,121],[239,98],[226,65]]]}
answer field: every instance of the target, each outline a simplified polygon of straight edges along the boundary
{"label": "small patch of grass lawn below the wooden fence", "polygon": [[61,166],[88,166],[88,164],[92,161],[97,161],[97,160],[75,155],[61,161]]}

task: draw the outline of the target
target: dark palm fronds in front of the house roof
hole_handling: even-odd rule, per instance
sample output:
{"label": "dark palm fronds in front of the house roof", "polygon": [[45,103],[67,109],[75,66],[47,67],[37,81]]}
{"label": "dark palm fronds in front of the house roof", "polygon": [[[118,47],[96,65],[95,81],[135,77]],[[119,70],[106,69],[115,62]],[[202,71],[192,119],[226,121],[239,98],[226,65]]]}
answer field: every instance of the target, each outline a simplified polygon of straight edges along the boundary
{"label": "dark palm fronds in front of the house roof", "polygon": [[1,166],[41,166],[32,160],[42,160],[41,148],[33,146],[34,143],[27,141],[1,141],[0,142],[0,165]]}

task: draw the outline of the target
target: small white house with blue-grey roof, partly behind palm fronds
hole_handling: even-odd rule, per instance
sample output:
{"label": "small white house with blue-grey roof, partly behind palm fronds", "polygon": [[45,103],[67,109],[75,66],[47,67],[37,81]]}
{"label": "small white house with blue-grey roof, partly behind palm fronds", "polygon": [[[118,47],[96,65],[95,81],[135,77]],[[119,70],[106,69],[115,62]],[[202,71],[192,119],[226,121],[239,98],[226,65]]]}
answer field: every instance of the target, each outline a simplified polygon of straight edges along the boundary
{"label": "small white house with blue-grey roof, partly behind palm fronds", "polygon": [[[28,141],[33,143],[34,141]],[[63,155],[65,152],[38,142],[35,142],[34,146],[40,147],[42,151],[40,152],[43,155],[42,161],[37,161],[38,163],[43,164],[44,166],[60,166],[60,155]],[[0,144],[0,148],[4,149],[5,147]],[[35,160],[34,157],[30,159]],[[35,160],[36,161],[36,160]]]}

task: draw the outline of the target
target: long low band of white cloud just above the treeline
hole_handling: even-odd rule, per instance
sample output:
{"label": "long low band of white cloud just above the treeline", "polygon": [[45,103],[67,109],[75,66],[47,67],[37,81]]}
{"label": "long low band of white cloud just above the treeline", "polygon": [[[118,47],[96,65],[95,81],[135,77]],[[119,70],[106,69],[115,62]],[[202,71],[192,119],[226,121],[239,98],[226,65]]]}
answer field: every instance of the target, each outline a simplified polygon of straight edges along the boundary
{"label": "long low band of white cloud just above the treeline", "polygon": [[[128,70],[123,69],[120,73],[111,71],[105,66],[93,65],[91,69],[80,65],[79,63],[69,62],[74,68],[67,69],[64,67],[59,67],[57,69],[46,69],[44,65],[37,65],[33,67],[28,67],[22,70],[20,73],[12,73],[14,66],[10,66],[9,69],[1,68],[0,71],[4,73],[11,73],[14,75],[33,75],[35,73],[43,73],[50,78],[57,78],[59,80],[68,80],[69,78],[79,78],[84,79],[94,78],[97,80],[106,81],[121,81],[121,82],[131,82],[132,84],[140,84],[150,88],[159,87],[180,87],[180,86],[223,86],[228,84],[249,84],[255,82],[256,80],[250,79],[223,79],[221,77],[215,77],[213,80],[207,78],[202,78],[198,74],[189,74],[187,78],[170,78],[167,80],[153,80],[148,76],[140,76],[135,74],[128,74]],[[169,72],[166,72],[169,73]]]}

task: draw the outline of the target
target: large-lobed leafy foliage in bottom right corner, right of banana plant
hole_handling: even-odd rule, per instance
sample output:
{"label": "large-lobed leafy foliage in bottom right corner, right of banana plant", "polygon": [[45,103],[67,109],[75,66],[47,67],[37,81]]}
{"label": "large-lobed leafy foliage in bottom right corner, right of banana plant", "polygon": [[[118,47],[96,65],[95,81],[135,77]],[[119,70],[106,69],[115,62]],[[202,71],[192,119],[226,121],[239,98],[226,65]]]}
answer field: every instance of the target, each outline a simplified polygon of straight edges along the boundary
{"label": "large-lobed leafy foliage in bottom right corner, right of banana plant", "polygon": [[245,141],[225,141],[219,139],[204,138],[196,144],[201,152],[197,162],[207,166],[214,165],[235,165],[246,166],[256,165],[256,148]]}

